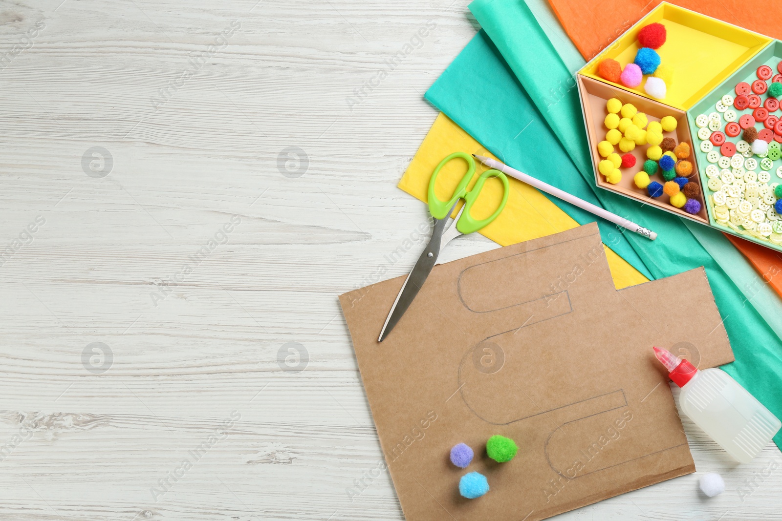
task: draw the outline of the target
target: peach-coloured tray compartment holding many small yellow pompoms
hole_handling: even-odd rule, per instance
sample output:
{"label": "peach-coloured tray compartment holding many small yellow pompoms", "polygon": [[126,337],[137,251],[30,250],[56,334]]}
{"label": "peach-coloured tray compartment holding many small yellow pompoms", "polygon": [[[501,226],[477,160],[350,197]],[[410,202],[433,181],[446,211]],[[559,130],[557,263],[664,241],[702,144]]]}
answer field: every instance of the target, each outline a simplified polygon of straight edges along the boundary
{"label": "peach-coloured tray compartment holding many small yellow pompoms", "polygon": [[[646,150],[650,145],[637,145],[633,149],[633,154],[636,158],[636,166],[633,168],[620,169],[622,170],[622,180],[618,184],[611,184],[605,180],[603,174],[597,171],[597,164],[604,158],[597,153],[597,144],[605,139],[605,134],[608,129],[604,126],[605,116],[608,111],[605,108],[606,102],[611,98],[618,98],[619,101],[624,103],[632,103],[635,105],[639,112],[644,112],[647,115],[648,120],[659,121],[664,116],[673,116],[678,121],[676,130],[673,132],[663,132],[663,137],[673,137],[678,145],[681,142],[686,142],[692,148],[693,141],[691,132],[687,123],[687,114],[679,109],[673,109],[662,103],[652,101],[648,98],[643,98],[632,92],[622,90],[618,87],[613,87],[612,84],[604,83],[602,81],[593,80],[588,77],[578,77],[579,95],[581,97],[581,106],[583,108],[584,122],[587,125],[587,137],[589,137],[590,151],[592,154],[592,163],[594,166],[595,180],[597,186],[605,188],[607,190],[615,191],[626,197],[637,199],[640,202],[644,202],[646,205],[656,206],[659,209],[663,209],[666,212],[674,213],[678,216],[687,217],[687,219],[693,219],[698,223],[708,224],[708,215],[706,206],[704,204],[704,190],[701,185],[701,194],[698,197],[698,201],[701,203],[701,211],[695,215],[691,215],[684,212],[683,209],[676,208],[671,205],[670,198],[666,194],[662,194],[658,198],[651,198],[646,189],[641,189],[633,182],[633,176],[640,172],[644,161],[647,159]],[[614,147],[619,155],[624,155],[619,150],[619,146]],[[691,183],[701,183],[701,178],[698,175],[698,163],[694,159],[694,155],[691,153],[690,161],[693,164],[693,172],[689,177]],[[651,176],[651,180],[656,180],[660,184],[665,184],[665,180],[662,178],[662,173],[656,173]]]}

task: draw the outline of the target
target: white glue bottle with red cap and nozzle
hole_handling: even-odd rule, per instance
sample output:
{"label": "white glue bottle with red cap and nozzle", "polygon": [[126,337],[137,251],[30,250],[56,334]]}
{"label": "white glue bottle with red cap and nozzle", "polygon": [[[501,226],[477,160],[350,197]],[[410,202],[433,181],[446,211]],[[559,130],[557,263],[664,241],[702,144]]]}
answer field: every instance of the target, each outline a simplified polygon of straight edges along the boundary
{"label": "white glue bottle with red cap and nozzle", "polygon": [[699,371],[662,348],[655,356],[682,388],[684,413],[738,462],[752,461],[780,430],[780,420],[722,369]]}

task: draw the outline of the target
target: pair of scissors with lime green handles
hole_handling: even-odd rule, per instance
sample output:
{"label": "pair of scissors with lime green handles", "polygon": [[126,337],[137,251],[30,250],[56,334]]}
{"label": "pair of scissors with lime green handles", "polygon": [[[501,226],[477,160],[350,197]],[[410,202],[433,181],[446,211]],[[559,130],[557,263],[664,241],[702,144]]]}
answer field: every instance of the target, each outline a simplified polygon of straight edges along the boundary
{"label": "pair of scissors with lime green handles", "polygon": [[[464,159],[468,165],[467,173],[459,181],[450,199],[440,201],[435,194],[437,174],[452,159]],[[393,327],[396,326],[396,323],[399,322],[399,319],[402,318],[404,312],[407,311],[407,308],[410,307],[415,295],[418,294],[421,286],[424,285],[426,277],[429,277],[429,272],[432,271],[440,252],[443,251],[446,244],[459,235],[472,234],[472,232],[486,227],[487,224],[497,219],[497,216],[505,208],[505,203],[508,202],[508,177],[505,177],[505,174],[499,170],[486,170],[475,181],[475,186],[468,190],[467,186],[470,184],[473,174],[475,174],[475,159],[473,159],[472,155],[465,154],[465,152],[454,152],[449,155],[437,165],[434,173],[432,173],[432,179],[429,180],[429,213],[434,218],[432,238],[429,239],[429,244],[426,245],[424,252],[418,257],[418,262],[415,263],[410,275],[407,276],[407,280],[402,284],[402,289],[396,295],[396,300],[391,306],[386,323],[383,324],[383,329],[380,331],[378,342],[382,342],[388,336]],[[497,177],[502,181],[502,202],[500,202],[499,208],[488,218],[474,219],[471,215],[472,205],[475,204],[475,199],[481,193],[486,180],[492,177]],[[449,223],[448,218],[454,212],[454,208],[456,208],[461,199],[465,200],[465,205],[461,207],[457,216]]]}

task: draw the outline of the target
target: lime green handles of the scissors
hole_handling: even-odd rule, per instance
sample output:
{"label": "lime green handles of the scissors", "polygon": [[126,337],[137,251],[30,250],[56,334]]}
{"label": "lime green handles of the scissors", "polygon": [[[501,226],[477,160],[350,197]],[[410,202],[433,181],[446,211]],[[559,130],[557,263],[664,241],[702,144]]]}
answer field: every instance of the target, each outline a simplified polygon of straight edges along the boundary
{"label": "lime green handles of the scissors", "polygon": [[[465,177],[462,177],[461,181],[459,181],[459,184],[457,185],[456,190],[450,199],[448,201],[440,201],[435,195],[435,181],[437,179],[437,174],[439,173],[440,169],[446,165],[447,162],[455,158],[461,158],[467,162],[467,173],[465,173]],[[480,230],[482,227],[485,227],[487,224],[491,223],[494,219],[497,219],[497,216],[499,216],[500,212],[502,212],[502,210],[505,208],[505,203],[508,202],[508,192],[510,191],[510,187],[508,186],[508,177],[505,177],[504,173],[500,172],[499,170],[486,170],[486,172],[482,173],[478,180],[475,181],[475,186],[472,187],[472,190],[467,191],[467,185],[470,184],[472,175],[474,173],[475,159],[472,157],[472,155],[465,154],[465,152],[454,152],[447,158],[443,159],[439,165],[437,165],[434,173],[432,173],[432,179],[429,180],[429,213],[431,213],[432,217],[435,219],[445,219],[448,216],[450,209],[454,207],[454,203],[457,202],[457,199],[465,199],[465,209],[463,212],[461,212],[461,217],[456,223],[456,229],[459,230],[462,234],[472,234],[472,232]],[[487,179],[491,179],[492,177],[498,177],[500,181],[502,181],[502,202],[500,202],[500,206],[497,208],[497,210],[495,210],[494,213],[486,219],[473,219],[471,215],[472,205],[475,204],[475,199],[477,199],[478,195],[481,193],[483,184],[486,183]]]}

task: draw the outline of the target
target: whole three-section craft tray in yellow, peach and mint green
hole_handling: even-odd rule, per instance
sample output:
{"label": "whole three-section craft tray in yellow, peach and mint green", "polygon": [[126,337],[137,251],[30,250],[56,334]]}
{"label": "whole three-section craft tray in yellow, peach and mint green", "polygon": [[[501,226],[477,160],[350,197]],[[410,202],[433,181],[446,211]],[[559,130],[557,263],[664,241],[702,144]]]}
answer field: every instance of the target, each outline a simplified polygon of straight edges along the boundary
{"label": "whole three-section craft tray in yellow, peach and mint green", "polygon": [[[644,91],[647,76],[644,76],[638,87],[631,88],[605,80],[598,73],[598,67],[604,59],[615,59],[622,67],[632,63],[640,48],[640,30],[655,22],[662,23],[667,33],[665,44],[657,49],[658,55],[661,63],[673,71],[673,81],[666,82],[667,92],[662,99],[651,98]],[[775,81],[782,82],[780,62],[780,41],[668,2],[658,5],[577,73],[576,83],[597,186],[782,251],[782,218],[774,211],[777,201],[774,188],[776,184],[782,184],[782,124],[776,127],[780,130],[776,133],[773,124],[776,123],[775,118],[782,117],[782,107],[777,108],[777,98],[774,98],[766,108],[766,100],[773,96],[762,85],[759,86],[759,94],[752,88],[755,87],[753,82],[760,79],[759,73],[769,72],[768,69],[759,71],[761,66],[768,66],[772,73],[765,80],[766,87]],[[758,131],[768,128],[766,120],[772,123],[763,134],[765,141],[770,141],[768,152],[753,153],[752,146],[743,139],[747,118],[741,120],[741,117],[758,114],[754,112],[757,100],[752,107],[744,108],[745,100],[733,105],[739,93],[744,92],[743,87],[737,87],[742,83],[749,86],[748,95],[755,94],[760,98],[760,107],[766,108],[772,116],[768,120],[763,117],[766,113],[761,111],[761,116],[755,120]],[[720,105],[723,97],[729,103]],[[608,130],[604,126],[604,118],[608,114],[606,102],[610,98],[619,98],[623,104],[632,103],[638,112],[646,114],[649,122],[659,121],[662,116],[673,116],[676,119],[676,130],[664,132],[663,135],[673,137],[677,144],[687,142],[690,145],[691,155],[687,160],[692,163],[693,171],[688,179],[700,185],[701,193],[696,198],[701,203],[699,212],[684,212],[669,202],[667,194],[651,198],[646,189],[636,186],[633,177],[642,170],[643,162],[647,159],[645,151],[648,145],[636,146],[630,152],[637,159],[636,165],[622,168],[622,180],[619,183],[608,183],[599,172],[598,164],[604,157],[597,152],[597,144],[604,141]],[[701,115],[708,120],[705,127],[701,127],[705,120],[698,120]],[[714,119],[719,119],[719,127],[712,123]],[[737,126],[731,123],[739,123],[739,120],[742,126],[736,135]],[[699,137],[701,128],[706,130],[701,131]],[[717,132],[723,136],[714,136],[712,140],[712,134]],[[704,139],[707,133],[709,135]],[[708,143],[703,144],[704,141]],[[723,149],[712,141],[729,141],[734,145],[733,148],[739,150],[731,154],[730,145]],[[624,154],[619,147],[616,147],[615,152]],[[740,161],[741,165],[738,164]],[[651,176],[651,179],[661,184],[665,182],[660,173]],[[711,184],[709,180],[712,180]],[[747,191],[748,186],[751,187],[750,191]],[[716,195],[718,192],[722,192],[724,197]],[[762,212],[762,216],[759,212]]]}

